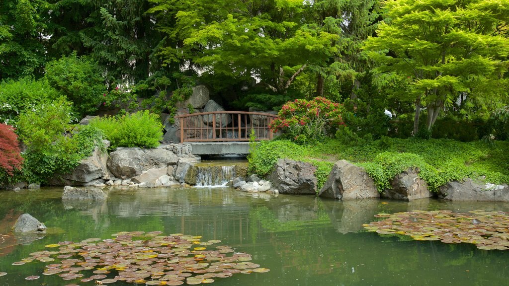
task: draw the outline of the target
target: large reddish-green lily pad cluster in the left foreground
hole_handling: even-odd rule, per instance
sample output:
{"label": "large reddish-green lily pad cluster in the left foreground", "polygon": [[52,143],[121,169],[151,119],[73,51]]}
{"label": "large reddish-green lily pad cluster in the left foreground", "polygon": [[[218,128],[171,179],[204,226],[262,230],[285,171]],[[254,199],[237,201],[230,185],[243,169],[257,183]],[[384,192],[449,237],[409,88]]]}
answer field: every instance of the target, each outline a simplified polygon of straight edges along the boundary
{"label": "large reddish-green lily pad cluster in the left foreground", "polygon": [[[96,284],[117,281],[146,285],[189,285],[212,283],[236,273],[268,272],[251,263],[251,255],[235,252],[230,246],[206,246],[219,240],[201,242],[200,236],[161,232],[120,232],[114,239],[90,238],[81,242],[64,241],[46,245],[54,251],[30,253],[13,265],[33,261],[50,263],[43,275],[59,275],[64,280],[95,280]],[[57,250],[58,249],[58,250]],[[109,275],[108,275],[109,274]],[[26,279],[37,279],[29,276]]]}

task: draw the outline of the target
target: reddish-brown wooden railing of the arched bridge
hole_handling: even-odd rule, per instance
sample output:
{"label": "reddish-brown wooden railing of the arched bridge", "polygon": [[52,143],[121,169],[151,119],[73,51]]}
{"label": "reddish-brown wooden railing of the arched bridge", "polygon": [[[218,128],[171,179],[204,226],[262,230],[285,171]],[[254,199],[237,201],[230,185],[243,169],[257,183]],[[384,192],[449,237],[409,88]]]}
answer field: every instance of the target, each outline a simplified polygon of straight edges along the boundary
{"label": "reddish-brown wooden railing of the arched bridge", "polygon": [[262,112],[214,111],[176,116],[180,142],[249,141],[251,130],[257,141],[272,139],[269,124],[276,115]]}

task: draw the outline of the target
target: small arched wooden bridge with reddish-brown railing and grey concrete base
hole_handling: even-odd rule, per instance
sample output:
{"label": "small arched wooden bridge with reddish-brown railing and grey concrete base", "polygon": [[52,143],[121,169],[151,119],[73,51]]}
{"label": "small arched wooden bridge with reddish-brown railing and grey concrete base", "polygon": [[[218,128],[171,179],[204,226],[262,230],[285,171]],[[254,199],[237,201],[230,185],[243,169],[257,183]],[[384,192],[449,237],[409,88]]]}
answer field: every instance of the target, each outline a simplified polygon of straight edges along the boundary
{"label": "small arched wooden bridge with reddish-brown railing and grey concrete base", "polygon": [[215,111],[175,117],[180,142],[192,146],[194,155],[248,154],[251,132],[254,140],[271,140],[269,128],[276,115],[261,112]]}

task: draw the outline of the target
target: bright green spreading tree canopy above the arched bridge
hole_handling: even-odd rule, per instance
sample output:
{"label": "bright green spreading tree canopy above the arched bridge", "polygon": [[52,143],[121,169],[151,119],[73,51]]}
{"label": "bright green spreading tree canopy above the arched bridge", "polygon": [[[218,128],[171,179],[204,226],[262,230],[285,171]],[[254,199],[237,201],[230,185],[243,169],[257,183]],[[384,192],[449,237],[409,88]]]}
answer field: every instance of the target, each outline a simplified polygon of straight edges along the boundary
{"label": "bright green spreading tree canopy above the arched bridge", "polygon": [[307,66],[335,51],[337,35],[303,25],[307,2],[152,0],[167,37],[166,64],[238,80],[259,78],[284,94]]}

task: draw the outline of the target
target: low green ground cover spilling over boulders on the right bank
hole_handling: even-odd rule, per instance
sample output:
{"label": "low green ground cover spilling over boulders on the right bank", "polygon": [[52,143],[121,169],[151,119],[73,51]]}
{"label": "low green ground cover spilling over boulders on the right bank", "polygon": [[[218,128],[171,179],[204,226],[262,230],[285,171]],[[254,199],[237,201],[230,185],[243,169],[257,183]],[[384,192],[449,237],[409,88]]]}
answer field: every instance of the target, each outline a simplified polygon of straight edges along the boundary
{"label": "low green ground cover spilling over boulders on the right bank", "polygon": [[493,145],[481,141],[460,142],[449,139],[382,139],[359,146],[346,146],[327,139],[315,145],[297,145],[289,140],[260,142],[249,155],[249,172],[264,176],[278,158],[310,162],[317,166],[320,189],[337,160],[362,166],[375,180],[379,190],[389,179],[417,167],[430,190],[453,180],[472,178],[490,183],[509,183],[509,142]]}

